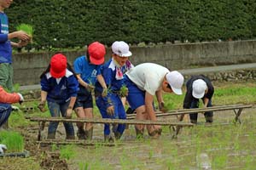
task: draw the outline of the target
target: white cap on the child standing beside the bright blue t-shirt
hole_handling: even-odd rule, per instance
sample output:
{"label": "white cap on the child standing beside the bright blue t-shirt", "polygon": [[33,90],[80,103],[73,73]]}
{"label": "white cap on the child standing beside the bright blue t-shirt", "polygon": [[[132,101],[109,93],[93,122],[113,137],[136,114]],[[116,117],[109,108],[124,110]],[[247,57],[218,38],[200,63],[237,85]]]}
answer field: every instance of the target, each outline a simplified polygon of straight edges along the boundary
{"label": "white cap on the child standing beside the bright blue t-shirt", "polygon": [[123,41],[113,42],[112,46],[113,54],[118,54],[120,57],[130,57],[131,51],[129,51],[129,45]]}

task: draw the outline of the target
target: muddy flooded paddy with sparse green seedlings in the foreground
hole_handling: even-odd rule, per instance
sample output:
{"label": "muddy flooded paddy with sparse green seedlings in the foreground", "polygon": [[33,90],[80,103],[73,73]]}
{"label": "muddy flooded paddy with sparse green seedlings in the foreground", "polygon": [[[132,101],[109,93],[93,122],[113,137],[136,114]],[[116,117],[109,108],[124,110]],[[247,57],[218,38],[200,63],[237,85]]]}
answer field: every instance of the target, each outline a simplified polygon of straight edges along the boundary
{"label": "muddy flooded paddy with sparse green seedlings in the foreground", "polygon": [[[244,110],[242,124],[234,124],[233,111],[217,112],[212,126],[184,127],[172,139],[163,127],[159,139],[135,139],[133,126],[116,146],[74,146],[69,169],[255,169],[256,109]],[[94,140],[103,140],[102,126],[96,125]]]}

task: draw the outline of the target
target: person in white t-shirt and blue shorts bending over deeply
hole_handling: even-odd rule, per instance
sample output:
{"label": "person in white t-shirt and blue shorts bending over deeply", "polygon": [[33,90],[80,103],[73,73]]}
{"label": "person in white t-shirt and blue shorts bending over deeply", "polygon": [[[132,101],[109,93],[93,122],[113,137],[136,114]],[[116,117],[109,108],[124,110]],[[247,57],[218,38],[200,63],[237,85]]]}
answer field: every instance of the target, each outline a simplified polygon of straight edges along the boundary
{"label": "person in white t-shirt and blue shorts bending over deeply", "polygon": [[[160,108],[164,104],[162,90],[166,93],[182,94],[183,75],[178,71],[169,71],[166,67],[154,63],[143,63],[125,73],[125,85],[128,88],[127,100],[132,109],[136,109],[138,120],[156,121],[154,113],[154,95]],[[148,134],[158,137],[160,126],[147,126]],[[135,126],[137,137],[143,135],[144,126]]]}

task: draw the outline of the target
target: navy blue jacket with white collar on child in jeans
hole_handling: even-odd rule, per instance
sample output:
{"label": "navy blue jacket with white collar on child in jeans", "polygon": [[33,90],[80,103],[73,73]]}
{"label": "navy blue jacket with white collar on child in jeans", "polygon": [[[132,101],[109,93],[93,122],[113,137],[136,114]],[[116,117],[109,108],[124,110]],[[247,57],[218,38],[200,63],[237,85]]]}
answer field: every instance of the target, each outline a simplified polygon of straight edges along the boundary
{"label": "navy blue jacket with white collar on child in jeans", "polygon": [[41,89],[47,92],[47,100],[63,104],[70,97],[76,97],[79,91],[79,82],[71,71],[66,71],[66,75],[61,78],[55,78],[46,73],[41,79]]}

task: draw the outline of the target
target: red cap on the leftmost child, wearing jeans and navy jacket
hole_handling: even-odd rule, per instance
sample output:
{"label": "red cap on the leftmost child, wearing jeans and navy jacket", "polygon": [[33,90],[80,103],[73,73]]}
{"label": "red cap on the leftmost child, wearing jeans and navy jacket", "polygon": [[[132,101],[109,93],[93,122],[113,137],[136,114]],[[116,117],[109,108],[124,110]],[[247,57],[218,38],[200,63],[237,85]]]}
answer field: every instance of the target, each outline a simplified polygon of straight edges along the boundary
{"label": "red cap on the leftmost child, wearing jeans and navy jacket", "polygon": [[50,59],[49,73],[52,77],[61,78],[66,74],[67,58],[63,54],[55,54]]}

